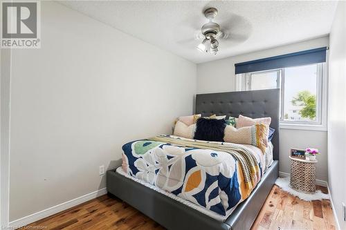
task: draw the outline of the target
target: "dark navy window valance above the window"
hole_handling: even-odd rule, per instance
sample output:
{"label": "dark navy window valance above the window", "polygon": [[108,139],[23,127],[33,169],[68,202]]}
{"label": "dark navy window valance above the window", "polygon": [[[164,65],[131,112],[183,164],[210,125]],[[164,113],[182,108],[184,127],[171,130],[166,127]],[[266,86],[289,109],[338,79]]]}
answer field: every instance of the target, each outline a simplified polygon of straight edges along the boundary
{"label": "dark navy window valance above the window", "polygon": [[326,50],[327,47],[315,48],[312,50],[292,52],[286,55],[237,63],[235,64],[235,74],[325,62]]}

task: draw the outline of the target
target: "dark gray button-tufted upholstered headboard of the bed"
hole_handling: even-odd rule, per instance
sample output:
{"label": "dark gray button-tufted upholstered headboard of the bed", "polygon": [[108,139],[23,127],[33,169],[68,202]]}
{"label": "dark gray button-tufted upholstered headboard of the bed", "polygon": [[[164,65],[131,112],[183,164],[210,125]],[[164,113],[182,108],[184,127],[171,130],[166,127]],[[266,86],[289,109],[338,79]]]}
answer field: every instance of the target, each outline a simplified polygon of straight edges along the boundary
{"label": "dark gray button-tufted upholstered headboard of the bed", "polygon": [[280,89],[251,90],[227,93],[197,94],[196,113],[203,116],[227,115],[238,117],[271,117],[271,127],[275,128],[273,158],[279,160],[279,113]]}

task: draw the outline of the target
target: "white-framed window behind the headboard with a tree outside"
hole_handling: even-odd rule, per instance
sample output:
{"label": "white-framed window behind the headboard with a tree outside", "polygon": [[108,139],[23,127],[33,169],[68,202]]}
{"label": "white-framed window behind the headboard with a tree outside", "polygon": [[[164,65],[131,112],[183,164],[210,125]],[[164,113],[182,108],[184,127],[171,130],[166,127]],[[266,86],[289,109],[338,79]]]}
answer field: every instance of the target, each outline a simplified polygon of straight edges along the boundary
{"label": "white-framed window behind the headboard with a tree outside", "polygon": [[325,129],[325,64],[308,64],[236,75],[237,90],[281,88],[280,126]]}

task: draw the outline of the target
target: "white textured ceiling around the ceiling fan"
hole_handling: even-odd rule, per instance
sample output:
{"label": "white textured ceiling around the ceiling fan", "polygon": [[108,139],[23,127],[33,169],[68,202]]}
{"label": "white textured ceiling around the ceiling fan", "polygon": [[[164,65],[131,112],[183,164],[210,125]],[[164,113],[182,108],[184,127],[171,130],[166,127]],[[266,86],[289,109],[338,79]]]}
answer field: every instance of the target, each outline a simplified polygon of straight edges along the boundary
{"label": "white textured ceiling around the ceiling fan", "polygon": [[[194,63],[262,50],[329,34],[337,1],[60,1],[122,32]],[[215,22],[233,28],[217,55],[199,52],[194,39],[207,19],[208,6],[219,10]],[[234,36],[233,36],[234,35]],[[247,37],[247,38],[246,38]]]}

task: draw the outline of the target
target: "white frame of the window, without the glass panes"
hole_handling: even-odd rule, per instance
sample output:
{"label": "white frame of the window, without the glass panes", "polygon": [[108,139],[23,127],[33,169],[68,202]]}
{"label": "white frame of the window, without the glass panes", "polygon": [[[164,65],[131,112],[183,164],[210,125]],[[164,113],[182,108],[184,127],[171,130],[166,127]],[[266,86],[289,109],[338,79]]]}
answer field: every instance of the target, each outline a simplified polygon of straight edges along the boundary
{"label": "white frame of the window, without the glass panes", "polygon": [[[309,66],[311,64],[303,65]],[[295,66],[291,66],[295,67]],[[298,67],[298,66],[297,66]],[[317,82],[316,82],[316,121],[285,121],[284,117],[284,80],[285,68],[276,68],[272,70],[262,70],[252,73],[242,73],[235,75],[235,90],[251,90],[251,77],[254,74],[277,72],[277,79],[280,82],[277,86],[281,88],[280,97],[280,128],[302,129],[327,131],[327,63],[317,64]],[[281,76],[280,76],[281,75]],[[245,80],[245,81],[244,81]]]}

